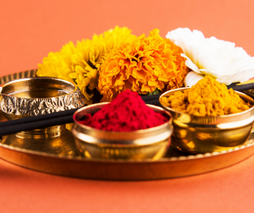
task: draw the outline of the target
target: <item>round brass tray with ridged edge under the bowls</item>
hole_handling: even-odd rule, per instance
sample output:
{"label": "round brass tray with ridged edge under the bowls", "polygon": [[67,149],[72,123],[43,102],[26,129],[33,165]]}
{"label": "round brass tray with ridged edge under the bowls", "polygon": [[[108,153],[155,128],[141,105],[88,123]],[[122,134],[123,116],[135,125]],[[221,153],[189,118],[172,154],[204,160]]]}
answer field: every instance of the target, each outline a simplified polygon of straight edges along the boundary
{"label": "round brass tray with ridged edge under the bowls", "polygon": [[[0,83],[31,77],[35,72],[5,76]],[[0,158],[32,170],[88,179],[153,180],[196,175],[239,163],[254,153],[254,133],[245,144],[226,151],[187,155],[171,147],[165,158],[156,161],[83,159],[77,153],[68,129],[59,138],[39,144],[32,139],[16,139],[15,135],[0,141]]]}

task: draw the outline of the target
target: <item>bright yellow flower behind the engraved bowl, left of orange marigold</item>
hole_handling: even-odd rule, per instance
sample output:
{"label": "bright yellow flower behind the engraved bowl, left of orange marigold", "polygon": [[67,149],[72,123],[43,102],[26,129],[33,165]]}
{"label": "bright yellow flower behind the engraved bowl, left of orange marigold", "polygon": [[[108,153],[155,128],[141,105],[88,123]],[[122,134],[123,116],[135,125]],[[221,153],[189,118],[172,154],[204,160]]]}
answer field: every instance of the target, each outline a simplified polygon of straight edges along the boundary
{"label": "bright yellow flower behind the engraved bowl, left of orange marigold", "polygon": [[78,41],[76,47],[72,42],[66,44],[60,52],[50,53],[39,64],[38,76],[52,76],[75,82],[81,92],[91,103],[91,91],[98,85],[98,69],[110,50],[131,35],[127,27],[108,30],[101,35],[94,35],[92,40]]}

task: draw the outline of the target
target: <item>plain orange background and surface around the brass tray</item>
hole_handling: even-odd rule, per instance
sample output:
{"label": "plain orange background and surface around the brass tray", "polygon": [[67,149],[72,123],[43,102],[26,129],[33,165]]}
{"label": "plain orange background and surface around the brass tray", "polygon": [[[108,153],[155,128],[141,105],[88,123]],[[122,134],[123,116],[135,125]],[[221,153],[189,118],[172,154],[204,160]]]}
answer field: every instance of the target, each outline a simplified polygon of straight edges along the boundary
{"label": "plain orange background and surface around the brass tray", "polygon": [[[178,27],[233,41],[254,55],[252,0],[8,0],[0,6],[0,74],[37,68],[69,41],[126,26]],[[216,172],[158,181],[93,181],[0,160],[0,212],[253,212],[254,156]]]}

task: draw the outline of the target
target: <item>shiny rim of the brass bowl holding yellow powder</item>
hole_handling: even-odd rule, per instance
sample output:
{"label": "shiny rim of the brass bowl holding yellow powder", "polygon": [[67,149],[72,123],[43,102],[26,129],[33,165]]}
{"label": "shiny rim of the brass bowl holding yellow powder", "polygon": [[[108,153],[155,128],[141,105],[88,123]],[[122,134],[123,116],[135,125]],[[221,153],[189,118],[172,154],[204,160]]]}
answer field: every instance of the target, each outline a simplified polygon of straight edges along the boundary
{"label": "shiny rim of the brass bowl holding yellow powder", "polygon": [[[180,111],[176,111],[168,106],[165,106],[164,104],[162,104],[162,101],[161,101],[161,98],[164,97],[164,96],[167,96],[169,93],[173,93],[173,92],[176,92],[176,91],[182,91],[182,90],[188,90],[190,89],[190,87],[181,87],[181,88],[177,88],[177,89],[172,89],[172,90],[169,90],[169,91],[166,91],[164,93],[162,93],[159,97],[159,102],[161,104],[161,106],[168,110],[169,112],[171,113],[175,113],[176,115],[185,115],[185,116],[189,116],[191,121],[202,121],[202,120],[209,120],[209,119],[213,119],[213,120],[221,120],[221,119],[228,119],[228,118],[231,118],[231,119],[234,119],[235,117],[238,117],[238,116],[241,116],[241,115],[244,115],[244,114],[248,114],[248,113],[251,113],[251,111],[253,111],[253,115],[254,115],[254,99],[252,97],[250,97],[249,95],[246,95],[242,92],[239,92],[239,91],[236,91],[234,90],[238,95],[240,95],[240,97],[244,97],[246,98],[248,101],[252,102],[253,106],[250,107],[249,109],[247,110],[244,110],[242,112],[239,112],[239,113],[233,113],[233,114],[229,114],[229,115],[220,115],[220,116],[197,116],[197,115],[192,115],[192,114],[188,114],[188,113],[185,113],[185,112],[180,112]],[[197,122],[197,123],[202,123],[202,122]]]}

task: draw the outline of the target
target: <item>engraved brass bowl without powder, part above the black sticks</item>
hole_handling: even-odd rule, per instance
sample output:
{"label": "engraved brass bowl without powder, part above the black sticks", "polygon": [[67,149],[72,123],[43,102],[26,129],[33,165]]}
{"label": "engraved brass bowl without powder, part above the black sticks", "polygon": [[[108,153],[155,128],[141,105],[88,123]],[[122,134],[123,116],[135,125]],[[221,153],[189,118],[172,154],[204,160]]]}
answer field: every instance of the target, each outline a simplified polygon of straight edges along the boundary
{"label": "engraved brass bowl without powder, part above the black sticks", "polygon": [[51,77],[12,80],[0,88],[0,109],[8,120],[50,114],[85,105],[85,98],[72,83]]}

